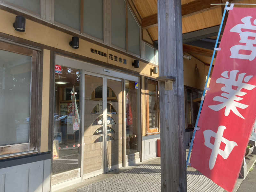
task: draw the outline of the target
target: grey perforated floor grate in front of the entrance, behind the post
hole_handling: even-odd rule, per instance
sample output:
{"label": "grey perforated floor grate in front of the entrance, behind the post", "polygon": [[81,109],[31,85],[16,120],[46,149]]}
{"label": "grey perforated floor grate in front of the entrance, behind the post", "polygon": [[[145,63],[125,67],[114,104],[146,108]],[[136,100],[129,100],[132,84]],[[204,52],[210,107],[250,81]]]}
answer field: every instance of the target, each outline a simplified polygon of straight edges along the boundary
{"label": "grey perforated floor grate in front of the entrance, behind the post", "polygon": [[[189,192],[217,192],[220,187],[200,172],[187,172]],[[77,189],[77,192],[161,192],[161,166],[143,164]]]}

